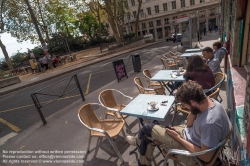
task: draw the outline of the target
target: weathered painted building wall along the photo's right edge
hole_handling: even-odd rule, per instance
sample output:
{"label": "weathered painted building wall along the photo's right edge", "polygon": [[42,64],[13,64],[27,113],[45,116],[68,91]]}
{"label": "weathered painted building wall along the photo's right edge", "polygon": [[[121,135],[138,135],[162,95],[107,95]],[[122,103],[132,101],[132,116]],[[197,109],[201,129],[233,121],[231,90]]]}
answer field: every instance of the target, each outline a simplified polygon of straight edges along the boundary
{"label": "weathered painted building wall along the photo's right edge", "polygon": [[[222,41],[226,60],[227,100],[232,153],[240,150],[240,165],[250,163],[250,1],[222,0]],[[245,154],[245,155],[244,155]]]}

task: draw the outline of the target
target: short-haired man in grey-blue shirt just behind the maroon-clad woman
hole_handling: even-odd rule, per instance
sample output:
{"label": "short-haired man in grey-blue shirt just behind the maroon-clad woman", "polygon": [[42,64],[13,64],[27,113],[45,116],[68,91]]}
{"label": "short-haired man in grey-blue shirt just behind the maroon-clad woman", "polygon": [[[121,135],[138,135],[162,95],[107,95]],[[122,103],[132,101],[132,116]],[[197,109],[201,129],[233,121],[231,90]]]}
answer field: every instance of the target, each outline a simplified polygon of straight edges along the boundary
{"label": "short-haired man in grey-blue shirt just behind the maroon-clad woman", "polygon": [[206,64],[210,67],[213,74],[215,75],[220,70],[220,60],[214,56],[213,49],[210,47],[205,47],[202,50],[202,55],[206,60]]}

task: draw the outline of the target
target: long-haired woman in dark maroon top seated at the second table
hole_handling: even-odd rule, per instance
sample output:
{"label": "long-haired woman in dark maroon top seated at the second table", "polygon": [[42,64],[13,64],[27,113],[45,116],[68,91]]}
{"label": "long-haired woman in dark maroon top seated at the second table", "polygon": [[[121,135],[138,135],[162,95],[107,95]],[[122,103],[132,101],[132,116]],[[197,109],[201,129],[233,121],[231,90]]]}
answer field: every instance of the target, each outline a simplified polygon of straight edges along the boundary
{"label": "long-haired woman in dark maroon top seated at the second table", "polygon": [[196,81],[203,89],[210,89],[215,84],[212,70],[205,64],[200,55],[193,55],[188,59],[188,66],[183,77]]}

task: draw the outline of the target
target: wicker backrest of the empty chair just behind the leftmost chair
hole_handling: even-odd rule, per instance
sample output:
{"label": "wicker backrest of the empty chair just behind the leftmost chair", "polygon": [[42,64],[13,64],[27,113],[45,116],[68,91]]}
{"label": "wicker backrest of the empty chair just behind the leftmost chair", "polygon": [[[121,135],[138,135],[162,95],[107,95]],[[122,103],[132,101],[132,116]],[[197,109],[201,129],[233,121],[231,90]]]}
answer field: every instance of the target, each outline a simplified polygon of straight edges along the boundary
{"label": "wicker backrest of the empty chair just behind the leftmost chair", "polygon": [[115,108],[118,104],[115,100],[113,91],[111,89],[106,89],[99,94],[102,104],[109,108]]}

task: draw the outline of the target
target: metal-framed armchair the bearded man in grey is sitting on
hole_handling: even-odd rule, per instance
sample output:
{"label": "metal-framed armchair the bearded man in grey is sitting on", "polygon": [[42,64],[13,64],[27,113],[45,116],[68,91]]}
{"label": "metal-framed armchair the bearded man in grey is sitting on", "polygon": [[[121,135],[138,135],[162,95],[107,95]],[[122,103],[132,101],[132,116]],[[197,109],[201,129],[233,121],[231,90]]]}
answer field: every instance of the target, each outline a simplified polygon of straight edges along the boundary
{"label": "metal-framed armchair the bearded man in grey is sitting on", "polygon": [[[165,157],[165,165],[167,165],[168,159],[172,159],[174,161],[174,163],[181,163],[181,161],[177,157],[175,157],[174,155],[184,155],[184,156],[193,157],[199,166],[213,166],[213,164],[215,163],[217,158],[220,157],[220,154],[223,153],[222,150],[223,150],[225,144],[227,143],[227,141],[229,140],[229,138],[231,137],[232,132],[233,132],[233,127],[232,127],[232,124],[230,122],[230,132],[226,136],[226,138],[224,138],[217,146],[215,146],[211,149],[208,149],[208,150],[201,151],[201,152],[191,153],[187,150],[170,149],[166,153],[165,150],[162,150],[162,154],[164,156],[166,156]],[[206,153],[209,153],[212,151],[215,151],[215,153],[214,153],[214,156],[212,157],[212,159],[210,160],[210,162],[201,161],[197,157],[199,155],[206,154]]]}

